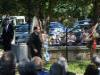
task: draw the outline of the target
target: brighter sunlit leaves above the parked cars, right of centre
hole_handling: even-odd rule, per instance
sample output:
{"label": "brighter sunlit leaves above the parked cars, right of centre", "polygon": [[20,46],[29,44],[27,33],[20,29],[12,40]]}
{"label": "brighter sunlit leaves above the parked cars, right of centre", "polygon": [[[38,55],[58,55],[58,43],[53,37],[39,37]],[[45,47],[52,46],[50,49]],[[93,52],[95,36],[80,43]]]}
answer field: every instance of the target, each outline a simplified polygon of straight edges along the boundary
{"label": "brighter sunlit leaves above the parked cars, right of centre", "polygon": [[87,17],[91,12],[91,1],[73,0],[61,1],[55,6],[54,12],[58,15],[71,16],[74,18]]}

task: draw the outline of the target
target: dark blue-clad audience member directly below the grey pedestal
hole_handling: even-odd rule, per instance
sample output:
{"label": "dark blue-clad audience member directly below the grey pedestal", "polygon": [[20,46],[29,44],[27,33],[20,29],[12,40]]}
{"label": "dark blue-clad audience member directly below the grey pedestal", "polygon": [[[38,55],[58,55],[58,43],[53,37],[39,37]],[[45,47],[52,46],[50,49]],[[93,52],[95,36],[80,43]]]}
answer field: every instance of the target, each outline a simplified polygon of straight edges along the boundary
{"label": "dark blue-clad audience member directly below the grey pedestal", "polygon": [[18,71],[20,75],[37,75],[35,65],[24,59],[19,63]]}

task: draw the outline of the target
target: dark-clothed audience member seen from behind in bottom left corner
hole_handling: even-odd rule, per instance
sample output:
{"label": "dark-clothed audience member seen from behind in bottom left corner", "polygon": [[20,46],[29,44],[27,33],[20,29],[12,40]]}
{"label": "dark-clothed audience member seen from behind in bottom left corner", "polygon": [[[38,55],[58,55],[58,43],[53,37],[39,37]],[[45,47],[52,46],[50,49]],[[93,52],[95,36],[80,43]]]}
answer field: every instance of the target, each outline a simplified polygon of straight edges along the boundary
{"label": "dark-clothed audience member seen from behind in bottom left corner", "polygon": [[0,60],[0,75],[15,75],[15,57],[11,51],[4,52]]}

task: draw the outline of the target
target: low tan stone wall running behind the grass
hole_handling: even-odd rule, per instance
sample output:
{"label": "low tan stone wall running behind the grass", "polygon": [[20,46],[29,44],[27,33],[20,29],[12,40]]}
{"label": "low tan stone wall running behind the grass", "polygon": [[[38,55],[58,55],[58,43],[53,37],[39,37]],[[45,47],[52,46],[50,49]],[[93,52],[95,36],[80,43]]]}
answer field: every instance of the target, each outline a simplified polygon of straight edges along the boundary
{"label": "low tan stone wall running behind the grass", "polygon": [[[68,58],[68,61],[90,60],[90,50],[86,46],[53,46],[49,47],[49,52],[52,55],[51,63],[55,62],[60,54]],[[100,45],[97,46],[96,52],[100,54]]]}

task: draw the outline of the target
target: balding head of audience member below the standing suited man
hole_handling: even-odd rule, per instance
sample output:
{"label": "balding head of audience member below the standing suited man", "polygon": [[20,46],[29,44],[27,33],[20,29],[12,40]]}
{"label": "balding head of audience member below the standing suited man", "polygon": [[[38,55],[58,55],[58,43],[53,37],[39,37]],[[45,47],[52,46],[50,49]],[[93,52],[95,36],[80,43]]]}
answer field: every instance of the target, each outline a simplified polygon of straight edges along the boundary
{"label": "balding head of audience member below the standing suited man", "polygon": [[33,57],[32,63],[36,66],[37,70],[42,69],[42,59],[38,56]]}

